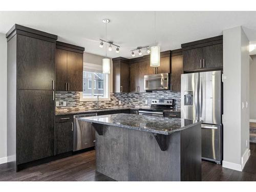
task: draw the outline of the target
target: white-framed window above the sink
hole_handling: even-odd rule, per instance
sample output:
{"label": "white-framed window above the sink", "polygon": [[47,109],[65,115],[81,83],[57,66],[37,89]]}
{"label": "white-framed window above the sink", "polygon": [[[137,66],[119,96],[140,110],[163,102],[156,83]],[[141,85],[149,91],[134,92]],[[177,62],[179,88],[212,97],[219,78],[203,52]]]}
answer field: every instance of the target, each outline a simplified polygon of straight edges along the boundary
{"label": "white-framed window above the sink", "polygon": [[[80,100],[110,99],[110,75],[103,74],[102,67],[86,63],[83,66],[83,92]],[[94,88],[94,89],[92,89]]]}

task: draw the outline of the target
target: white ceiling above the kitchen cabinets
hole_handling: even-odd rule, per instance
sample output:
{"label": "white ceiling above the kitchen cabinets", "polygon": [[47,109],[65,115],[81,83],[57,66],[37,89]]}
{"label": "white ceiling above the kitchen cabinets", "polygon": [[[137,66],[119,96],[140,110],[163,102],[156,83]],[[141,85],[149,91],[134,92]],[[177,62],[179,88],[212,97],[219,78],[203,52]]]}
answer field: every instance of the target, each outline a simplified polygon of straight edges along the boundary
{"label": "white ceiling above the kitchen cabinets", "polygon": [[[88,53],[103,56],[105,47],[99,48],[99,38],[105,39],[103,18],[111,20],[107,39],[121,47],[119,53],[114,49],[107,51],[108,57],[131,58],[132,49],[154,45],[152,11],[2,11],[0,33],[7,33],[14,24],[24,25],[58,35],[59,41],[84,47]],[[222,35],[224,29],[243,26],[251,44],[256,46],[255,20],[255,11],[157,11],[156,42],[161,51],[174,50],[185,42]],[[256,49],[252,52],[256,54]]]}

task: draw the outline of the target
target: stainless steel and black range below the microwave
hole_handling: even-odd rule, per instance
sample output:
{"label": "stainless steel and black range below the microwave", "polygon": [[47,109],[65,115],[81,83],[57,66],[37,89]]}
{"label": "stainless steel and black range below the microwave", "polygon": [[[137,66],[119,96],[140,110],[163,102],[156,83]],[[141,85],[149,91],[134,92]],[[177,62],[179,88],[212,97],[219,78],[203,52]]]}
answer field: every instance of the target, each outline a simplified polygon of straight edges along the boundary
{"label": "stainless steel and black range below the microwave", "polygon": [[149,108],[139,109],[139,115],[164,116],[165,110],[172,110],[175,106],[174,99],[152,99]]}

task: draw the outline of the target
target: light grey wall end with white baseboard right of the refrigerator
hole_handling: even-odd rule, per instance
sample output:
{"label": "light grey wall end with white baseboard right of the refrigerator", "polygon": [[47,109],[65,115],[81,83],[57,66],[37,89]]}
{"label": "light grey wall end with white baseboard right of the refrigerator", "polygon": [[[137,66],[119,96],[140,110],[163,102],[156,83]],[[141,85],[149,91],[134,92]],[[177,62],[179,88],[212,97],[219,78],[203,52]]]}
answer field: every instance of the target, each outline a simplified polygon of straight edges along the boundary
{"label": "light grey wall end with white baseboard right of the refrigerator", "polygon": [[223,31],[223,74],[223,166],[242,170],[249,153],[249,41],[241,26]]}

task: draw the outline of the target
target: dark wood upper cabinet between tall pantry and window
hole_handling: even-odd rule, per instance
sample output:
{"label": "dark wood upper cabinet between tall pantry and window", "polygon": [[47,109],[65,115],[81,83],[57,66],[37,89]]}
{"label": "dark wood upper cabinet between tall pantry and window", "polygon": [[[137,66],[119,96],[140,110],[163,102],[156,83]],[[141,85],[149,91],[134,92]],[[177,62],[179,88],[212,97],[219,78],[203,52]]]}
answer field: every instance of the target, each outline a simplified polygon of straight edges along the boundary
{"label": "dark wood upper cabinet between tall pantry and window", "polygon": [[56,91],[82,91],[83,47],[56,42]]}

